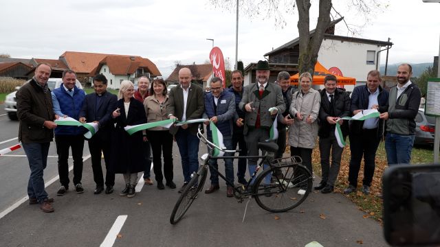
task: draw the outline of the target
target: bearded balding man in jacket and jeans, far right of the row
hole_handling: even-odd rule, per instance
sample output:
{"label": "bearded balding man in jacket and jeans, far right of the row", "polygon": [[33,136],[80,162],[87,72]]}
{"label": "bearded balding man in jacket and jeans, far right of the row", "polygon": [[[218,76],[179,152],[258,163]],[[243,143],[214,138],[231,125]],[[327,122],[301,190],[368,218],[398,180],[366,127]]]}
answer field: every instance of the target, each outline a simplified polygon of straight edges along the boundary
{"label": "bearded balding man in jacket and jeans, far right of the row", "polygon": [[410,81],[412,67],[397,67],[397,85],[390,89],[388,112],[380,115],[386,120],[385,150],[388,165],[409,164],[415,138],[415,116],[419,111],[421,93]]}

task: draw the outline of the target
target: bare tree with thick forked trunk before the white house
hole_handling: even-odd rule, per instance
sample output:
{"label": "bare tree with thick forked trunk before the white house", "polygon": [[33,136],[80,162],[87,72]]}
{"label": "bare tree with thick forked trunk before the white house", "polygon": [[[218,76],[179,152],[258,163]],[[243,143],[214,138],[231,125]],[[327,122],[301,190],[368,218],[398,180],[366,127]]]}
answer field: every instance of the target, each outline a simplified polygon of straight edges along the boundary
{"label": "bare tree with thick forked trunk before the white house", "polygon": [[[214,5],[215,8],[235,10],[236,0],[208,1]],[[381,4],[381,1],[382,0],[340,0],[338,3],[345,4],[351,12],[355,12],[353,14],[357,17],[362,17],[365,25],[365,23],[369,23],[369,19],[374,16],[375,10],[387,7],[387,5]],[[284,16],[292,14],[296,9],[298,11],[297,27],[300,48],[298,69],[300,73],[308,71],[313,75],[325,30],[327,30],[331,22],[331,17],[340,16],[340,13],[336,11],[331,0],[319,0],[318,2],[318,22],[316,23],[313,36],[310,36],[309,33],[311,0],[241,0],[239,1],[239,8],[242,14],[244,13],[250,17],[259,17],[262,19],[273,17],[275,19],[275,25],[281,28],[287,25]],[[362,28],[362,26],[345,24],[351,34],[356,33],[356,28]]]}

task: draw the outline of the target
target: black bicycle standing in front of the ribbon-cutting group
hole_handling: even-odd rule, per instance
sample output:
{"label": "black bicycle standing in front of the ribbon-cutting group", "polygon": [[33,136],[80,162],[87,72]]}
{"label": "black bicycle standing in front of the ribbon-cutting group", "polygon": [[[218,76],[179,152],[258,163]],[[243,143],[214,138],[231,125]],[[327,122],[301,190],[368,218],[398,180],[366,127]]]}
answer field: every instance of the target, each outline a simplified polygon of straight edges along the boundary
{"label": "black bicycle standing in front of the ribbon-cutting group", "polygon": [[[182,191],[177,200],[173,212],[170,215],[170,223],[177,224],[181,217],[190,208],[192,202],[197,199],[198,193],[203,189],[203,185],[208,175],[208,161],[211,158],[220,159],[223,156],[212,156],[214,149],[222,152],[239,152],[240,150],[224,150],[214,143],[208,141],[206,137],[197,133],[197,137],[208,147],[208,153],[200,157],[202,162],[197,172],[191,174],[191,180]],[[228,158],[261,158],[256,166],[247,185],[234,186],[228,181],[218,169],[219,176],[234,190],[234,198],[237,202],[243,202],[250,196],[255,199],[259,207],[272,213],[289,211],[298,207],[307,198],[312,187],[312,176],[309,170],[301,165],[303,162],[299,156],[287,158],[274,158],[274,152],[278,150],[278,145],[274,142],[259,142],[259,148],[265,151],[264,156],[228,156]],[[269,164],[269,167],[263,168],[263,172],[256,176],[263,164]],[[211,167],[215,169],[214,167]],[[266,176],[271,176],[270,183],[265,183]],[[254,180],[254,183],[252,181]]]}

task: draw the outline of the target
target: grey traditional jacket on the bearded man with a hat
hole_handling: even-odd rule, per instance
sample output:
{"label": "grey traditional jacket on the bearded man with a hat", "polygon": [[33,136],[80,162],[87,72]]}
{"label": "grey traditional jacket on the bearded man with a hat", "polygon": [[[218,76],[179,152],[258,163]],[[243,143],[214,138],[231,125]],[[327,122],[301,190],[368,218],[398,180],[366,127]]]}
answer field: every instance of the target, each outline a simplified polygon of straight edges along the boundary
{"label": "grey traditional jacket on the bearded man with a hat", "polygon": [[[254,102],[252,107],[255,109],[252,113],[248,113],[245,110],[245,104]],[[259,99],[259,86],[258,83],[253,83],[245,86],[243,89],[243,97],[239,104],[239,108],[245,111],[245,130],[244,134],[247,134],[248,128],[255,127],[256,115],[260,108],[260,124],[262,127],[270,128],[274,124],[274,117],[269,113],[269,108],[278,108],[278,113],[281,114],[285,111],[286,106],[283,99],[283,93],[281,93],[281,87],[267,82],[263,96]]]}

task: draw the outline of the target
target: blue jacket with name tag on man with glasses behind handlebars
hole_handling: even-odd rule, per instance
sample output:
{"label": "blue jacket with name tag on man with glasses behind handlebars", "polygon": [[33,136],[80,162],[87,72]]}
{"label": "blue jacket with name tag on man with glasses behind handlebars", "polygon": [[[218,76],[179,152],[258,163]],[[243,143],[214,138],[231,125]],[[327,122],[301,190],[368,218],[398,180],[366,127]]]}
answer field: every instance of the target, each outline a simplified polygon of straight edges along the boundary
{"label": "blue jacket with name tag on man with glasses behind handlebars", "polygon": [[[229,91],[223,91],[220,94],[219,100],[217,101],[217,113],[214,110],[214,96],[212,93],[206,93],[205,97],[205,112],[203,113],[203,118],[210,119],[211,117],[217,116],[217,128],[223,134],[223,138],[232,137],[232,122],[234,121],[235,115],[235,96],[234,93]],[[208,138],[211,137],[211,130],[209,126],[207,127]]]}

